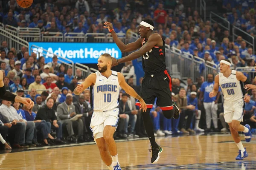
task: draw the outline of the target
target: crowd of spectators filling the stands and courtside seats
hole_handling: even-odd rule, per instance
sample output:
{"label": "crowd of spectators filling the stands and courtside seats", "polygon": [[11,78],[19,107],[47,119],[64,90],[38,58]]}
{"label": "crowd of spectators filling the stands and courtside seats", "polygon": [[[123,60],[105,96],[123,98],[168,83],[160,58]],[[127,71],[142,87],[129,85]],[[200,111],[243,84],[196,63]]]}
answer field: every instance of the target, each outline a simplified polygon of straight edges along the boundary
{"label": "crowd of spectators filling the stands and courtside seats", "polygon": [[[4,24],[38,27],[42,34],[108,33],[108,30],[103,29],[105,21],[113,23],[116,33],[137,33],[138,24],[147,18],[154,20],[154,31],[163,37],[167,45],[183,52],[216,65],[221,59],[230,59],[235,68],[255,64],[256,56],[241,36],[233,42],[228,30],[222,30],[218,24],[204,22],[198,11],[185,8],[183,3],[183,0],[34,0],[31,8],[23,9],[17,6],[15,0],[9,0],[6,4],[2,3],[0,16]],[[254,8],[251,5],[248,6],[250,9],[243,6],[244,3],[236,8],[233,1],[223,1],[223,8],[227,7],[225,14],[230,22],[234,18],[235,21],[231,23],[237,24],[239,21],[240,28],[254,35]],[[236,14],[240,19],[236,18]],[[85,79],[81,70],[77,69],[73,76],[73,68],[65,68],[58,62],[57,56],[46,64],[44,57],[37,58],[35,53],[29,55],[26,47],[16,51],[15,48],[9,47],[6,41],[1,42],[0,49],[0,68],[4,74],[6,90],[18,96],[29,97],[35,102],[31,109],[20,103],[1,102],[0,123],[3,126],[0,126],[0,133],[3,139],[6,139],[8,134],[6,140],[12,143],[12,147],[17,148],[64,144],[67,141],[91,141],[90,90],[84,91],[80,96],[73,95],[76,85]],[[201,67],[201,70],[203,71],[204,67]],[[127,62],[121,72],[134,74],[134,66]],[[125,78],[139,93],[142,78],[137,86],[134,85],[133,77]],[[212,130],[227,132],[221,106],[221,92],[216,98],[209,98],[212,83],[212,74],[208,75],[207,81],[204,81],[204,77],[199,77],[196,82],[189,78],[184,86],[180,85],[180,79],[172,79],[172,95],[180,108],[180,118],[166,119],[160,108],[154,104],[150,114],[155,135],[193,134]],[[244,120],[252,128],[256,128],[255,101],[256,91],[253,91],[252,99],[244,109]],[[120,92],[120,122],[115,139],[146,136],[141,113],[135,102],[136,100],[124,91]],[[76,114],[83,116],[73,121],[71,118]],[[4,144],[3,140],[1,142]]]}

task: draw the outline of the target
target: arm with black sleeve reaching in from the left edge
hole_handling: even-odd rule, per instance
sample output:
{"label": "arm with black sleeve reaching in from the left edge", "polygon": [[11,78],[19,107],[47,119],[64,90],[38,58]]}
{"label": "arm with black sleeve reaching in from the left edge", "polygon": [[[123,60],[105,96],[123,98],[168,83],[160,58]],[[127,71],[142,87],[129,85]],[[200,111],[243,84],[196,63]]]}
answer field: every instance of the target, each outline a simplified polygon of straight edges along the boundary
{"label": "arm with black sleeve reaching in from the left edge", "polygon": [[0,70],[0,99],[7,100],[10,102],[19,102],[27,105],[29,108],[34,106],[34,102],[32,102],[29,98],[24,98],[20,96],[16,96],[9,91],[6,91],[3,84],[3,72]]}

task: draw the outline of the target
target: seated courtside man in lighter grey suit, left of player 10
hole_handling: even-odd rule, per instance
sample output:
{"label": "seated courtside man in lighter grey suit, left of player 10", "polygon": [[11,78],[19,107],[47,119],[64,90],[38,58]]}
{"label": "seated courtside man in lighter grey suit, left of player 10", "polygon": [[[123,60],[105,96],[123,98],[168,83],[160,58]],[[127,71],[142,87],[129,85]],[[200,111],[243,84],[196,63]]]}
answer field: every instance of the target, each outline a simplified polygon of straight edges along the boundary
{"label": "seated courtside man in lighter grey suit, left of player 10", "polygon": [[[76,115],[75,106],[72,104],[73,102],[73,96],[68,95],[66,97],[65,102],[58,105],[57,108],[57,116],[58,120],[67,127],[68,137],[67,139],[71,142],[76,141],[76,138],[83,141],[83,129],[84,124],[81,119],[78,119],[76,121],[70,120],[73,116]],[[77,137],[75,136],[75,133],[73,131],[73,126],[76,125],[77,127]]]}

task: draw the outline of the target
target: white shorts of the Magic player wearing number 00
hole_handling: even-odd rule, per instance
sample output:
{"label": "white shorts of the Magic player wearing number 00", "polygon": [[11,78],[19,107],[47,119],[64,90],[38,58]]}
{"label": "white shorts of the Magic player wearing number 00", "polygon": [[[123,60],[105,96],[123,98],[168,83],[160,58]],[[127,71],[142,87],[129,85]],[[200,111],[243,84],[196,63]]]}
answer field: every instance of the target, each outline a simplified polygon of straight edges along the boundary
{"label": "white shorts of the Magic player wearing number 00", "polygon": [[224,100],[224,119],[225,122],[230,123],[232,120],[243,122],[244,114],[244,99],[236,101]]}

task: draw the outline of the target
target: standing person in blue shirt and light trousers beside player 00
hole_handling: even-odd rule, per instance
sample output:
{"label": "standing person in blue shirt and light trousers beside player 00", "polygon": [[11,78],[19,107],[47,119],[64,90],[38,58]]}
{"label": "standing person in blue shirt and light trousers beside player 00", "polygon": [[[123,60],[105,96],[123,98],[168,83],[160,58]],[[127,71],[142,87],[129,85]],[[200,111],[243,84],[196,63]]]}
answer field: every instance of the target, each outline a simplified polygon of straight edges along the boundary
{"label": "standing person in blue shirt and light trousers beside player 00", "polygon": [[[206,114],[206,125],[207,125],[207,131],[210,130],[211,127],[211,119],[215,128],[215,131],[218,131],[218,116],[217,116],[217,102],[220,96],[220,88],[218,91],[218,94],[215,97],[209,97],[209,93],[212,91],[214,85],[213,81],[213,75],[208,74],[207,75],[207,82],[204,82],[201,85],[200,91],[200,97],[199,102],[204,102],[204,109]],[[211,118],[212,117],[212,118]]]}

